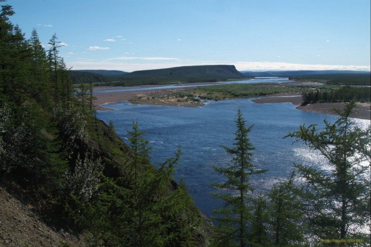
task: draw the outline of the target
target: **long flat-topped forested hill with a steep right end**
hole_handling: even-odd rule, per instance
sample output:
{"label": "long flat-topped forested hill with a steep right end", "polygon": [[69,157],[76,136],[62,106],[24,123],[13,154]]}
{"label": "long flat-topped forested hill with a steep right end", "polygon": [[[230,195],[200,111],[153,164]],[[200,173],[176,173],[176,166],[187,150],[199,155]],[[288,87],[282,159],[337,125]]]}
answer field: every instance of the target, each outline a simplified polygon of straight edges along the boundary
{"label": "long flat-topped forested hill with a steep right end", "polygon": [[245,77],[233,65],[183,66],[159,70],[134,71],[124,75],[110,76],[112,81],[115,81],[114,85],[210,82],[242,79]]}

